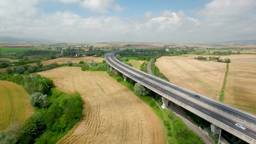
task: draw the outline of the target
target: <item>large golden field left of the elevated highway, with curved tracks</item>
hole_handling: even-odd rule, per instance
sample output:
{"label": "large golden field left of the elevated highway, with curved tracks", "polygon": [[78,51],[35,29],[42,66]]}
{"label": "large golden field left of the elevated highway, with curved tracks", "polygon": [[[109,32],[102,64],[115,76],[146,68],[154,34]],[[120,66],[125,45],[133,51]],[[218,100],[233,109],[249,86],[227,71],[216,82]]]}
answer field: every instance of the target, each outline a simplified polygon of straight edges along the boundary
{"label": "large golden field left of the elevated highway, with curved tracks", "polygon": [[83,119],[58,144],[165,144],[165,132],[154,111],[107,72],[59,67],[38,72],[57,89],[78,91],[85,101]]}

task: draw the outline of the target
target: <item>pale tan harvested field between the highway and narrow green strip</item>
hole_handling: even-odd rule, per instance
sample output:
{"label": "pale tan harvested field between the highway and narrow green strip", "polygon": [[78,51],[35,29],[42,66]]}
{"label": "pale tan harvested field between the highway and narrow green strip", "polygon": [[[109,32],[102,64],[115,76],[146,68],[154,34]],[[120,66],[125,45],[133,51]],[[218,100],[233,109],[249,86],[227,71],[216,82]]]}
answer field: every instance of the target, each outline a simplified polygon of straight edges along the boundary
{"label": "pale tan harvested field between the highway and narrow green strip", "polygon": [[173,56],[161,57],[155,64],[171,83],[219,100],[226,63]]}

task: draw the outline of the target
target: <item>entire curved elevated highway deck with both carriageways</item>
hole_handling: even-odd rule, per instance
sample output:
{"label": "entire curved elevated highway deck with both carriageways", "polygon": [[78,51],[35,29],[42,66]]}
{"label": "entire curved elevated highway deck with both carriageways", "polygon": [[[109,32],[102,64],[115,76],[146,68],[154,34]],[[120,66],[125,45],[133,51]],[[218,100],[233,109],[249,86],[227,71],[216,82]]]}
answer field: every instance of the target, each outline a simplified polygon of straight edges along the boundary
{"label": "entire curved elevated highway deck with both carriageways", "polygon": [[[221,129],[243,139],[245,142],[256,144],[255,115],[171,84],[146,72],[136,70],[117,60],[115,58],[116,52],[111,51],[105,55],[105,60],[110,67],[201,118],[217,125]],[[199,95],[201,98],[195,98],[195,95]],[[239,129],[235,126],[236,123],[244,124],[246,129]]]}

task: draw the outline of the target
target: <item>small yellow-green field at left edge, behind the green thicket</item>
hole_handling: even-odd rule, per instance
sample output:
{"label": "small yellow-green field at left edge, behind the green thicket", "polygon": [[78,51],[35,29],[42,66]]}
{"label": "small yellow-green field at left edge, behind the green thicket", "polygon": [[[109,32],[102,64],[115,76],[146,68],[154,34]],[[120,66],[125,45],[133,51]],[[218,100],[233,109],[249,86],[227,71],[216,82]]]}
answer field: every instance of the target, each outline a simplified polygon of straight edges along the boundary
{"label": "small yellow-green field at left edge, behind the green thicket", "polygon": [[23,123],[34,112],[29,95],[21,85],[0,81],[0,96],[0,130],[16,120]]}

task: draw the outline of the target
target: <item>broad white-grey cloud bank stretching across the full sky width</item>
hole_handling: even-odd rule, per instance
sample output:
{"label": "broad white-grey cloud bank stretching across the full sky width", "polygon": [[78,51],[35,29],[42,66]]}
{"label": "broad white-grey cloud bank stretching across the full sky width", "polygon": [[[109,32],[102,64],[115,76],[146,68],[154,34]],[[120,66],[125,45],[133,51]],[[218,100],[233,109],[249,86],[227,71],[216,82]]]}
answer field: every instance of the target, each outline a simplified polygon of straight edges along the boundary
{"label": "broad white-grey cloud bank stretching across the full sky width", "polygon": [[[62,1],[63,2],[63,1]],[[77,1],[73,1],[77,2]],[[91,11],[108,12],[113,0],[83,0]],[[243,3],[244,2],[244,3]],[[197,11],[141,14],[137,19],[119,16],[83,17],[73,12],[38,14],[37,0],[1,0],[0,36],[38,37],[61,42],[213,42],[256,38],[255,0],[213,0]]]}

